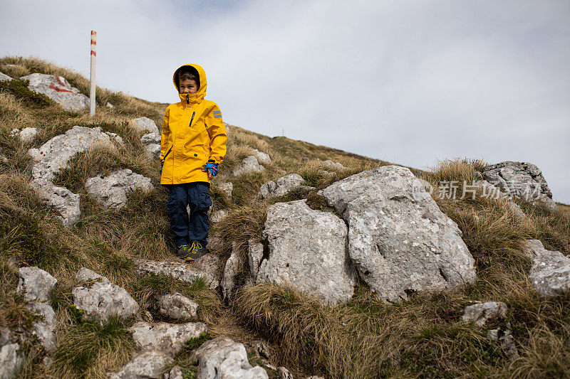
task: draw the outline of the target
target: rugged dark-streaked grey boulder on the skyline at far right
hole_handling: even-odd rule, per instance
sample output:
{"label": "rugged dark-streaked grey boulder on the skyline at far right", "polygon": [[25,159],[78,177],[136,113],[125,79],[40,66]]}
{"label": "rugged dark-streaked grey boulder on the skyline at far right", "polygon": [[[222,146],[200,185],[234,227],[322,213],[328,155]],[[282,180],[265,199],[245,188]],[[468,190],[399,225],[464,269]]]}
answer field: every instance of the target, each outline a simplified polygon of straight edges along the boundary
{"label": "rugged dark-streaked grey boulder on the skyline at far right", "polygon": [[551,210],[558,209],[542,171],[532,163],[504,161],[485,167],[482,175],[486,181],[501,188],[507,196],[532,203],[541,201]]}

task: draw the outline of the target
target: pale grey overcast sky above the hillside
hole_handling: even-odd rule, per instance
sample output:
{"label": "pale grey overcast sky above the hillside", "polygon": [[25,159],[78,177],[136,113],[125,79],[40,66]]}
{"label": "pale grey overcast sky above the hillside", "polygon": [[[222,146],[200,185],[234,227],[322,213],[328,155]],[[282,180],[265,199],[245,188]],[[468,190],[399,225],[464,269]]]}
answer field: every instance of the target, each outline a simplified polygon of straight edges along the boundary
{"label": "pale grey overcast sky above the hillside", "polygon": [[198,63],[224,121],[427,169],[537,164],[570,203],[570,1],[0,0],[0,55],[176,102]]}

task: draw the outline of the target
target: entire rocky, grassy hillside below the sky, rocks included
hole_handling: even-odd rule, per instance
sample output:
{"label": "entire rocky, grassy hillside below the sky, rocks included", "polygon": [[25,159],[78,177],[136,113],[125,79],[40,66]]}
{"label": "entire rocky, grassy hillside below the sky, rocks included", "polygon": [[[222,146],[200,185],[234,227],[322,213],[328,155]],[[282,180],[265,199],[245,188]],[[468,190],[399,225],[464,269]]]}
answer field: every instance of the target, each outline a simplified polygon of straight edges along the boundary
{"label": "entire rocky, grassy hillside below the sky, rocks included", "polygon": [[[0,378],[561,377],[570,212],[528,162],[431,172],[227,125],[173,255],[165,105],[0,59]],[[158,125],[158,126],[157,126]]]}

